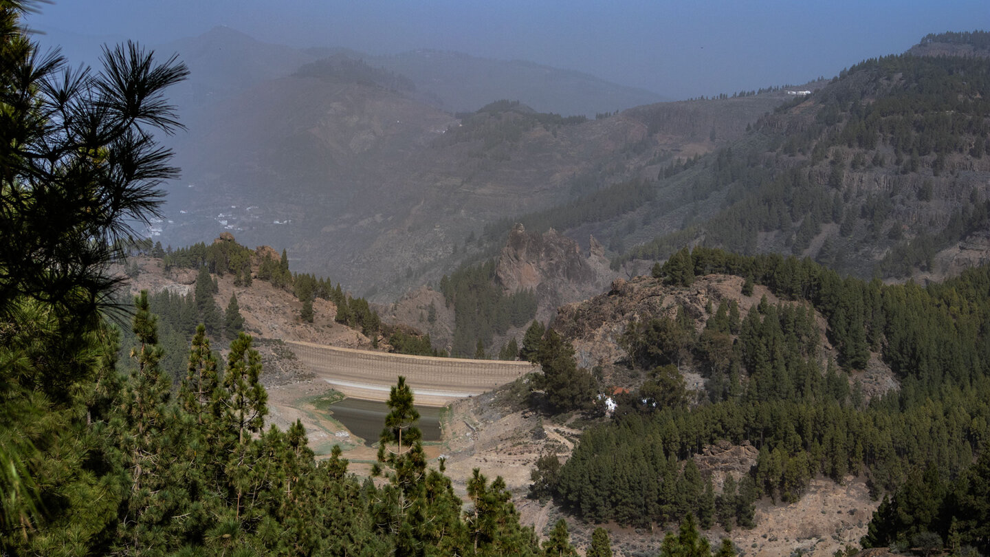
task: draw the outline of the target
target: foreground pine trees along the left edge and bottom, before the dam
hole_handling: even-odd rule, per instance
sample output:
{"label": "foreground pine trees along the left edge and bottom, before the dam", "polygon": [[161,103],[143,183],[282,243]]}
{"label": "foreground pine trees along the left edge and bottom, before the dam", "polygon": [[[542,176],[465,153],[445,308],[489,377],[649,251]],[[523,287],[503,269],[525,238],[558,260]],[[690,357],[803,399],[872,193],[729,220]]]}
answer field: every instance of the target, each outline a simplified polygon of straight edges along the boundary
{"label": "foreground pine trees along the left edge and bottom, before the dam", "polygon": [[180,127],[162,91],[188,70],[133,44],[69,69],[29,40],[33,7],[0,0],[0,554],[538,554],[501,480],[463,512],[428,470],[401,380],[378,487],[301,423],[265,427],[249,336],[222,365],[200,325],[166,369],[148,293],[115,305],[108,266],[177,171],[151,132]]}

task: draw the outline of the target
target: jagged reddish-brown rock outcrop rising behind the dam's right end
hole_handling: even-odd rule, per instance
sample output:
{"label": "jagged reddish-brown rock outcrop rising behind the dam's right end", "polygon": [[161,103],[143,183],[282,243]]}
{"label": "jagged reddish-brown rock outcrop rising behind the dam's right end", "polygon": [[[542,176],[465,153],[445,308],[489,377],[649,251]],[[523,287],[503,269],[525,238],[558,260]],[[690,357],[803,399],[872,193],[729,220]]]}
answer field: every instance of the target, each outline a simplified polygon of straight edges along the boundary
{"label": "jagged reddish-brown rock outcrop rising behind the dam's right end", "polygon": [[533,289],[537,317],[546,320],[557,306],[599,293],[617,277],[594,237],[590,246],[585,255],[577,242],[552,228],[538,234],[517,224],[502,248],[495,279],[507,292]]}

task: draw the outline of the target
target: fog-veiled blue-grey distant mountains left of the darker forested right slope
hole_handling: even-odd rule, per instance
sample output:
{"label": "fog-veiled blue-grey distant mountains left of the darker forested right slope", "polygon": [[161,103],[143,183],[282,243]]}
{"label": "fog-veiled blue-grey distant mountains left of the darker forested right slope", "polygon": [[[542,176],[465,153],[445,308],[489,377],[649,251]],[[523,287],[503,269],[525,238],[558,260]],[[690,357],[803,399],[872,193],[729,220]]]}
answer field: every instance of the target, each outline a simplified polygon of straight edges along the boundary
{"label": "fog-veiled blue-grey distant mountains left of the darker forested right slope", "polygon": [[[299,51],[228,28],[158,51],[177,53],[192,71],[171,91],[188,131],[169,142],[183,177],[169,192],[172,222],[160,223],[161,239],[182,245],[227,229],[247,243],[287,247],[301,269],[359,291],[410,268],[424,267],[413,269],[419,275],[454,265],[454,246],[463,254],[464,239],[492,220],[637,176],[644,161],[674,153],[632,154],[648,127],[637,116],[537,122],[526,112],[594,117],[659,97],[529,62]],[[351,67],[310,71],[319,60]],[[501,98],[526,108],[493,117],[499,123],[484,138],[444,139],[461,124],[453,111]],[[681,114],[670,121],[674,135],[687,134],[672,149],[696,140],[692,153],[706,152],[713,130],[728,139],[783,99],[738,100],[728,118],[712,107],[671,105]],[[503,137],[509,128],[512,137]],[[627,167],[631,156],[640,162]]]}

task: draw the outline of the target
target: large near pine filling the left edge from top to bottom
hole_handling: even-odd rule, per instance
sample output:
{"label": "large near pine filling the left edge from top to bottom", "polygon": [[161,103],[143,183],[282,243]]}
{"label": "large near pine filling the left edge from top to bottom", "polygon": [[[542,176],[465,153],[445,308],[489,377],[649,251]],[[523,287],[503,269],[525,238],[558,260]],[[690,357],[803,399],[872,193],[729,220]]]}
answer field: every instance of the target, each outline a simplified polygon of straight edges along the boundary
{"label": "large near pine filling the left edge from top to bottom", "polygon": [[36,8],[0,6],[0,552],[105,554],[147,508],[169,390],[147,293],[126,390],[101,312],[119,309],[110,264],[177,173],[152,133],[181,127],[162,93],[188,69],[133,43],[98,71],[70,67],[24,26]]}

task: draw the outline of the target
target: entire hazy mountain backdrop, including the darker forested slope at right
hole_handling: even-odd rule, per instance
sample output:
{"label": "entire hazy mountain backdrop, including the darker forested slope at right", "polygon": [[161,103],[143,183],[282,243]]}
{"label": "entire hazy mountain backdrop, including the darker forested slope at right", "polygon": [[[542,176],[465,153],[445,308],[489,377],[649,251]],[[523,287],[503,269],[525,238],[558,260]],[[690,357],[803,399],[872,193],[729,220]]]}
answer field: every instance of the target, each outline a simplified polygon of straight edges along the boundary
{"label": "entire hazy mountain backdrop, including the darker forested slope at right", "polygon": [[[952,41],[919,48],[982,52]],[[832,82],[613,112],[643,92],[526,62],[299,51],[227,28],[162,50],[192,77],[172,91],[189,130],[171,142],[183,178],[168,195],[171,222],[155,225],[160,240],[229,231],[376,299],[494,256],[516,220],[585,246],[594,235],[616,265],[701,242],[814,257],[860,276],[931,273],[937,252],[978,228],[962,201],[986,198],[987,159],[970,154],[978,107],[957,107],[958,118],[977,112],[940,135],[950,147],[926,132],[939,110],[919,86],[953,69],[917,60],[948,58],[893,56]],[[981,82],[943,81],[945,98]],[[497,94],[484,99],[487,90]],[[568,118],[526,96],[536,90],[605,108]],[[905,96],[913,100],[892,100]],[[502,98],[520,102],[492,102]],[[891,108],[867,119],[878,103]],[[908,264],[891,261],[909,252]]]}

